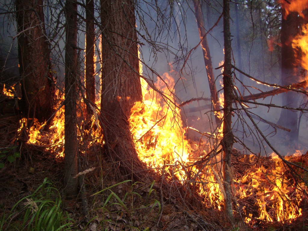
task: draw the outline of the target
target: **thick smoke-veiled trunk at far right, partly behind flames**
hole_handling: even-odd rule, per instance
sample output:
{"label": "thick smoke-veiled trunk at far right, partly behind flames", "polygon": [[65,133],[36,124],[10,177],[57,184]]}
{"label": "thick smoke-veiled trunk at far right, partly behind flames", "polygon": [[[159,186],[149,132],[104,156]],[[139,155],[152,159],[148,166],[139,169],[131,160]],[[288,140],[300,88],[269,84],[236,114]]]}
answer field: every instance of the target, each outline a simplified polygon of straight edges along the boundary
{"label": "thick smoke-veiled trunk at far right, partly behind flames", "polygon": [[[282,9],[281,23],[281,80],[282,85],[289,85],[298,81],[298,64],[295,59],[292,48],[292,39],[300,32],[301,23],[298,13],[290,13],[285,16],[285,10]],[[286,92],[283,95],[283,105],[288,107],[297,107],[298,94],[295,92]],[[281,111],[277,124],[289,128],[291,132],[285,132],[286,139],[291,142],[298,141],[298,113],[290,110]],[[293,145],[293,144],[292,144]]]}

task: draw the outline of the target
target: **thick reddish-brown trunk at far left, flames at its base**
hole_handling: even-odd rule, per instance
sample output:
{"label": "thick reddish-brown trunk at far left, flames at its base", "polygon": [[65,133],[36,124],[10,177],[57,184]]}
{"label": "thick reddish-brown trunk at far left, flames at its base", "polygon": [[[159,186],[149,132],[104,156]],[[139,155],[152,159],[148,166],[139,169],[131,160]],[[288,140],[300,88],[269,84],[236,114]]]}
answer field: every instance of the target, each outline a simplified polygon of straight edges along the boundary
{"label": "thick reddish-brown trunk at far left, flames at its base", "polygon": [[50,118],[55,105],[43,0],[16,0],[15,4],[23,116],[43,123]]}

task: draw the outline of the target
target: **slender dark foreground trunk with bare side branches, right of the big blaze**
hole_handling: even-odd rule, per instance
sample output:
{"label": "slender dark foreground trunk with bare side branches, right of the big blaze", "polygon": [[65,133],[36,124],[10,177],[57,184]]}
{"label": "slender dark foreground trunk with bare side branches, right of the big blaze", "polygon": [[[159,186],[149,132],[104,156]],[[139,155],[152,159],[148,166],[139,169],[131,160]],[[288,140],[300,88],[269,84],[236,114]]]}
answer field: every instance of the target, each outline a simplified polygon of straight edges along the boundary
{"label": "slender dark foreground trunk with bare side branches, right of the big blaze", "polygon": [[232,79],[232,56],[231,56],[231,33],[230,33],[230,15],[229,15],[229,0],[223,1],[223,16],[224,16],[224,47],[225,47],[225,63],[223,72],[224,83],[224,117],[223,117],[223,138],[221,145],[223,148],[223,172],[224,172],[224,207],[225,213],[231,221],[233,221],[232,209],[232,190],[231,190],[231,155],[233,145],[232,132],[232,99],[233,97],[233,79]]}

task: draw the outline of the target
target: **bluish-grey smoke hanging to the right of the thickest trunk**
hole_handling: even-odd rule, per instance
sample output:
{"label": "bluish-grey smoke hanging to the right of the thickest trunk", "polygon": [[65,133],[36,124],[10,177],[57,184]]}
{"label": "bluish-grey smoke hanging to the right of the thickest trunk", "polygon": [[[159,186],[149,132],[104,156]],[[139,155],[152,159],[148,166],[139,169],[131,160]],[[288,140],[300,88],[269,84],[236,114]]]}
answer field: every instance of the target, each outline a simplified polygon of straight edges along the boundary
{"label": "bluish-grey smoke hanging to the right of the thickest trunk", "polygon": [[[172,54],[172,52],[158,52],[154,54],[151,52],[151,47],[147,45],[141,46],[143,60],[149,67],[155,69],[160,75],[164,72],[169,72],[174,77],[176,81],[175,94],[179,98],[179,102],[197,97],[210,98],[209,83],[200,45],[196,50],[191,52],[183,67],[183,59],[186,58],[188,52],[200,42],[193,9],[193,4],[191,2],[182,2],[178,7],[174,7],[172,25],[168,30],[163,31],[159,37],[160,42],[168,44],[170,50],[175,54]],[[251,75],[255,79],[281,85],[281,48],[278,44],[279,28],[271,28],[274,27],[272,25],[274,22],[270,22],[270,16],[268,16],[268,11],[270,11],[269,7],[266,9],[267,11],[256,8],[251,15],[250,10],[245,5],[239,5],[237,13],[235,4],[232,3],[230,5],[233,64],[236,67],[240,67],[243,72]],[[203,15],[205,15],[205,29],[209,30],[209,28],[217,22],[221,14],[221,6],[218,2],[216,5],[213,4],[211,6],[203,3],[202,11]],[[279,19],[278,17],[277,20]],[[151,25],[151,23],[149,25]],[[174,28],[178,29],[175,30]],[[151,31],[151,27],[149,31]],[[154,33],[155,29],[153,28],[152,31]],[[217,26],[207,35],[214,68],[221,66],[224,60],[222,31],[223,25],[222,20],[220,20]],[[141,33],[142,32],[141,30]],[[140,40],[142,41],[142,39]],[[241,51],[240,53],[239,50]],[[241,55],[241,59],[239,55]],[[145,67],[143,70],[147,72]],[[150,71],[148,71],[148,73],[149,72]],[[274,89],[273,87],[259,84],[241,75],[237,71],[235,71],[234,74],[237,79],[241,80],[246,86],[244,90],[238,80],[234,82],[243,95],[256,94]],[[221,69],[214,70],[214,75],[216,78],[218,96],[220,96],[221,92],[223,92],[221,91],[222,86],[220,82],[222,79]],[[150,76],[150,78],[155,80],[156,77]],[[270,96],[265,99],[258,99],[257,102],[285,106],[282,102],[283,94]],[[297,97],[298,105],[292,105],[292,107],[298,107],[306,101],[306,97],[299,93]],[[186,119],[187,126],[196,128],[200,132],[210,132],[211,121],[209,118],[213,119],[213,113],[209,113],[210,108],[202,110],[201,112],[196,111],[198,107],[208,105],[209,103],[209,101],[200,100],[198,102],[194,101],[189,103],[183,107],[185,115],[182,117]],[[291,143],[290,139],[288,139],[287,131],[279,127],[273,128],[272,126],[278,123],[281,111],[286,109],[260,105],[256,106],[253,104],[249,104],[249,106],[252,107],[249,111],[256,114],[253,115],[253,119],[257,126],[271,144],[273,144],[274,148],[281,152],[282,155],[293,154],[296,150],[306,152],[307,142],[305,137],[307,136],[307,118],[305,114],[297,111],[293,112],[298,118],[301,116],[301,119],[298,126],[298,142]],[[193,108],[195,112],[190,112]],[[235,136],[255,153],[261,152],[262,155],[272,153],[273,151],[264,142],[263,138],[260,139],[257,135],[253,135],[257,134],[257,132],[247,115],[245,115],[243,111],[240,112],[240,116],[238,115],[238,112],[236,112],[233,117],[233,131]],[[261,120],[258,116],[264,120]],[[265,120],[270,122],[270,124]],[[188,138],[199,140],[200,137],[200,134],[188,129]],[[240,143],[235,143],[234,147],[243,151],[245,150],[244,152],[246,153],[246,149],[243,149]]]}

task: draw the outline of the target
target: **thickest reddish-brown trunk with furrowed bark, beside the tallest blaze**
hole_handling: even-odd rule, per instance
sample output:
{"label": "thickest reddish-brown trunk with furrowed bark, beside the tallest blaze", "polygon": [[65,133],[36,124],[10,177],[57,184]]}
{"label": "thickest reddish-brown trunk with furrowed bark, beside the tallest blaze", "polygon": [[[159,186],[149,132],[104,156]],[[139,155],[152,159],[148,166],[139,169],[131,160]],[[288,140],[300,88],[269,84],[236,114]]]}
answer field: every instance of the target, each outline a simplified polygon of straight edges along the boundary
{"label": "thickest reddish-brown trunk with furrowed bark, beside the tallest blaze", "polygon": [[[134,3],[131,0],[101,1],[102,96],[101,116],[111,159],[119,161],[121,174],[143,180],[132,141],[128,118],[131,107],[142,100]],[[140,178],[141,177],[141,178]]]}

